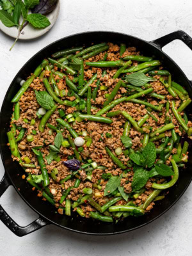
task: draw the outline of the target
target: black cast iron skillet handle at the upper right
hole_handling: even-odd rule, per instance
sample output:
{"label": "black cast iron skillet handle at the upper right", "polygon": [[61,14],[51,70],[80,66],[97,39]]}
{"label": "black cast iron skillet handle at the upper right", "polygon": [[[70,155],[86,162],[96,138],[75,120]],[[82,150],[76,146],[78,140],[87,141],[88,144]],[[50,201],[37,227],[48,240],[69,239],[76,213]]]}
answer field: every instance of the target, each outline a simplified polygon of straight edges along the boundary
{"label": "black cast iron skillet handle at the upper right", "polygon": [[169,44],[175,39],[181,40],[192,50],[192,38],[182,30],[177,30],[168,35],[157,38],[156,40],[150,41],[150,43],[162,49],[164,45]]}

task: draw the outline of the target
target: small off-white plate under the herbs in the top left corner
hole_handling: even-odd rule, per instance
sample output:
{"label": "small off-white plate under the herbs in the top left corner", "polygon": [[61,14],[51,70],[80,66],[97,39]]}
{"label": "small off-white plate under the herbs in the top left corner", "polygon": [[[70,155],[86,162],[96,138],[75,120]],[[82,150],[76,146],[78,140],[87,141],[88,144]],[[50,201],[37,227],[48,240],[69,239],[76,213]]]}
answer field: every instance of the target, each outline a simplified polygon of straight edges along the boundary
{"label": "small off-white plate under the herbs in the top left corner", "polygon": [[[44,35],[45,33],[47,33],[52,26],[54,25],[54,23],[56,22],[56,20],[58,19],[58,15],[60,13],[60,0],[58,1],[56,8],[49,13],[48,15],[46,15],[46,17],[50,20],[51,25],[48,26],[47,28],[44,29],[36,29],[33,28],[33,26],[31,26],[30,24],[28,24],[20,33],[20,40],[29,40],[29,39],[34,39],[37,38],[39,36]],[[17,38],[18,35],[18,29],[16,27],[12,27],[12,28],[7,28],[6,26],[3,25],[3,23],[0,21],[0,29],[1,31],[3,31],[6,35],[11,36],[13,38]]]}

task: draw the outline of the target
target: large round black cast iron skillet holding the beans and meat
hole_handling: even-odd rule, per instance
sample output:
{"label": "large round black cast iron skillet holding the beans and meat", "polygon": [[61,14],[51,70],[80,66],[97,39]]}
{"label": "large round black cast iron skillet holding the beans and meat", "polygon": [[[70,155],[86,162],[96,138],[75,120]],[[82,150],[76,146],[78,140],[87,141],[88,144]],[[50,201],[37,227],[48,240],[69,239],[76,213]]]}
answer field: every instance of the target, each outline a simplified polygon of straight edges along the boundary
{"label": "large round black cast iron skillet holding the beans and meat", "polygon": [[[182,40],[184,44],[188,45],[192,50],[192,38],[189,37],[184,31],[176,31],[169,35],[163,36],[152,42],[146,42],[140,38],[134,36],[125,35],[122,33],[106,32],[106,31],[94,31],[88,33],[81,33],[77,35],[68,36],[48,45],[42,51],[38,52],[29,60],[24,67],[22,67],[12,81],[12,84],[8,88],[8,92],[4,97],[3,106],[0,114],[0,148],[1,157],[3,159],[5,174],[3,180],[0,182],[0,196],[3,195],[4,191],[8,186],[12,185],[22,199],[33,209],[39,218],[33,223],[26,227],[20,227],[15,221],[8,216],[0,205],[0,219],[4,225],[8,227],[17,236],[25,236],[35,230],[38,230],[45,225],[54,224],[59,227],[66,228],[82,234],[92,235],[111,235],[128,232],[136,228],[142,227],[153,220],[156,220],[164,212],[168,211],[170,207],[177,202],[182,196],[184,191],[188,188],[191,179],[192,172],[189,168],[192,164],[192,157],[189,158],[188,166],[185,170],[180,170],[179,181],[176,186],[170,189],[170,193],[166,195],[166,198],[161,202],[157,203],[154,209],[149,213],[140,218],[127,218],[124,221],[119,221],[117,224],[111,223],[98,223],[92,219],[84,220],[83,218],[77,218],[74,214],[74,218],[68,216],[55,214],[55,208],[51,204],[44,202],[41,198],[36,196],[36,191],[32,191],[31,186],[21,176],[24,174],[19,164],[12,161],[10,149],[6,146],[7,137],[6,132],[9,129],[10,116],[12,114],[11,99],[13,95],[19,90],[19,82],[21,79],[25,79],[31,73],[31,70],[39,65],[39,63],[52,53],[59,51],[60,49],[70,48],[77,45],[90,45],[92,42],[113,42],[113,43],[125,43],[127,46],[136,46],[144,56],[156,56],[157,59],[163,61],[163,66],[173,74],[173,79],[178,83],[182,84],[192,96],[192,83],[188,80],[182,70],[177,64],[169,58],[163,51],[162,47],[175,39]],[[192,152],[191,152],[192,153]]]}

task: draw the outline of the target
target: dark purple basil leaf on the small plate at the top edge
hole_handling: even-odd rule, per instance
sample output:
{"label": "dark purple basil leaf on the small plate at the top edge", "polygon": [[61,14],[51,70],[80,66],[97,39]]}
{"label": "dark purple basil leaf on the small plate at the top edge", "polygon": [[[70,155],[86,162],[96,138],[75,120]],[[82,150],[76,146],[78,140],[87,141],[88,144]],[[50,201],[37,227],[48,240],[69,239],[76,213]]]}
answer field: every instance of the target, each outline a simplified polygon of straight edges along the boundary
{"label": "dark purple basil leaf on the small plate at the top edge", "polygon": [[58,0],[40,0],[40,3],[36,5],[31,10],[31,12],[46,15],[48,13],[51,13],[54,10],[57,3],[58,3]]}

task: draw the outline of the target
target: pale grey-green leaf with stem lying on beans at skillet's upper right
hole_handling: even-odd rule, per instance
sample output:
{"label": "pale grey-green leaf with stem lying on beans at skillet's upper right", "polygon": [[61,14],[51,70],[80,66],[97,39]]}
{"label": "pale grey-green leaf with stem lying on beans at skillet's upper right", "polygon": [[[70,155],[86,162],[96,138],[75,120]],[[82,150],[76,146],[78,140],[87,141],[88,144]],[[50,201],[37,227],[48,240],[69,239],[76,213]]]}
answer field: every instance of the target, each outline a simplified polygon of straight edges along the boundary
{"label": "pale grey-green leaf with stem lying on beans at skillet's upper right", "polygon": [[126,81],[135,86],[143,86],[148,81],[155,81],[156,79],[145,76],[143,73],[132,73],[126,76]]}

